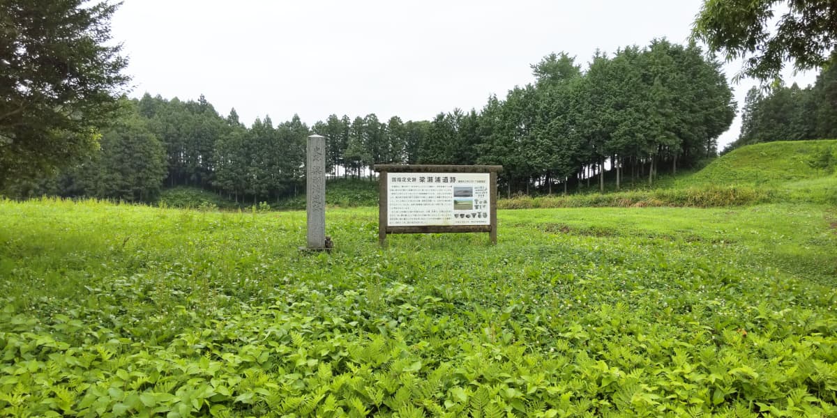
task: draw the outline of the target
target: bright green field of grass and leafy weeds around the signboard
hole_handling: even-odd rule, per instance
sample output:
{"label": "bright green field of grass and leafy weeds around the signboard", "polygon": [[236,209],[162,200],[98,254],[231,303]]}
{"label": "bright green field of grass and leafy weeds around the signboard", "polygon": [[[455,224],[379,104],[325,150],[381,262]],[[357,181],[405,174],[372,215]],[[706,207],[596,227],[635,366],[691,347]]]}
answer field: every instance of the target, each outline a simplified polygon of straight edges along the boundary
{"label": "bright green field of grass and leafy weeds around the signboard", "polygon": [[0,202],[0,415],[837,413],[825,206],[305,213]]}

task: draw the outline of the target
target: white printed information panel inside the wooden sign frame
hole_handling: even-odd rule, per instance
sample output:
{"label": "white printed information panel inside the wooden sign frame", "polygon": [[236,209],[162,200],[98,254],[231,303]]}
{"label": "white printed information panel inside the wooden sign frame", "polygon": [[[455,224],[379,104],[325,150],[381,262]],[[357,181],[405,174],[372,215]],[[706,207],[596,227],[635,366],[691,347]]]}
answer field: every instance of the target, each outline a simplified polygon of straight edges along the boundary
{"label": "white printed information panel inside the wooden sign frame", "polygon": [[489,186],[489,173],[387,173],[387,224],[490,225]]}

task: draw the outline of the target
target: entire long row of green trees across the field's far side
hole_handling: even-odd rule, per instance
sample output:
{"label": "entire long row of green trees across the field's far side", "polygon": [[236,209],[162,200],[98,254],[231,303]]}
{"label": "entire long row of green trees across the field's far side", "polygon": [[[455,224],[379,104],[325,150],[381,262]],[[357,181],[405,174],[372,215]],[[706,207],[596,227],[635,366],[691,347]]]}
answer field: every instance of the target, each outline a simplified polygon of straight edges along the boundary
{"label": "entire long row of green trees across the field's far side", "polygon": [[653,181],[660,166],[676,171],[716,154],[735,114],[719,67],[695,44],[666,40],[597,53],[585,71],[567,54],[550,54],[531,66],[534,83],[490,96],[481,110],[406,122],[330,115],[311,127],[298,116],[278,125],[265,116],[248,127],[203,96],[145,94],[123,100],[121,120],[94,157],[52,181],[18,181],[13,194],[147,201],[163,186],[185,185],[236,201],[272,200],[300,189],[311,133],[329,138],[332,177],[372,177],[377,163],[424,163],[502,165],[510,194],[566,192],[591,180],[603,187],[606,172],[617,186],[628,177]]}

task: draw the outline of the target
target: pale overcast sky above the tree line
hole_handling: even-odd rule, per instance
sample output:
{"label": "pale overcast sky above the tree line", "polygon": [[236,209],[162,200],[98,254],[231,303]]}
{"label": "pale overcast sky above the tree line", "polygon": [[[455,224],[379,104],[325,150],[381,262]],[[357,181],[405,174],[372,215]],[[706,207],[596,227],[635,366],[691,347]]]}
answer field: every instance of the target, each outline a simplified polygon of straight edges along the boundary
{"label": "pale overcast sky above the tree line", "polygon": [[[566,51],[587,67],[652,38],[685,43],[701,0],[187,1],[126,0],[112,20],[135,88],[167,99],[204,94],[249,125],[294,114],[430,120],[480,110],[533,80],[530,64]],[[740,69],[727,64],[727,77]],[[815,74],[786,74],[790,84]],[[739,109],[754,82],[733,84]],[[737,118],[719,148],[738,135]]]}

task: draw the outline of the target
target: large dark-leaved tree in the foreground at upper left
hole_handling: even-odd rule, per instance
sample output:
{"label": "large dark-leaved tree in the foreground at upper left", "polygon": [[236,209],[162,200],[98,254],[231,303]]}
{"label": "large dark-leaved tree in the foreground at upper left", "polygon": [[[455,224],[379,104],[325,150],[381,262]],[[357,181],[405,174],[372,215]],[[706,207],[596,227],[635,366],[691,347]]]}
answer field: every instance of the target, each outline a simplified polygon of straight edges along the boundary
{"label": "large dark-leaved tree in the foreground at upper left", "polygon": [[0,2],[0,187],[95,150],[129,81],[121,45],[110,38],[117,6]]}

